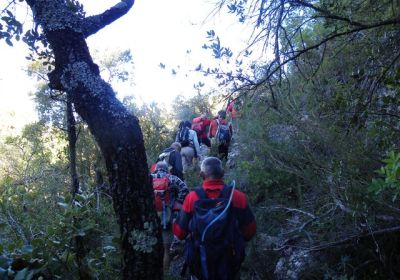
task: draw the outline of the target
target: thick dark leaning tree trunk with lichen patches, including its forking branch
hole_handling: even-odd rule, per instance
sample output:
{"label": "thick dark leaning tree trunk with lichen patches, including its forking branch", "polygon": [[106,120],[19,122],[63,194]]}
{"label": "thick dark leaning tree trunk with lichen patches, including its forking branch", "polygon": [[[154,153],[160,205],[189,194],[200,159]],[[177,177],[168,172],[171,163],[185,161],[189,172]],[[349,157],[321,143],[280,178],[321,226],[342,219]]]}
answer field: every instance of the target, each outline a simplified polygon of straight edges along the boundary
{"label": "thick dark leaning tree trunk with lichen patches, including its forking branch", "polygon": [[122,0],[89,18],[78,17],[64,0],[26,2],[54,53],[50,87],[71,96],[104,156],[121,230],[123,279],[161,279],[161,231],[139,122],[100,77],[85,40],[127,13],[134,1]]}

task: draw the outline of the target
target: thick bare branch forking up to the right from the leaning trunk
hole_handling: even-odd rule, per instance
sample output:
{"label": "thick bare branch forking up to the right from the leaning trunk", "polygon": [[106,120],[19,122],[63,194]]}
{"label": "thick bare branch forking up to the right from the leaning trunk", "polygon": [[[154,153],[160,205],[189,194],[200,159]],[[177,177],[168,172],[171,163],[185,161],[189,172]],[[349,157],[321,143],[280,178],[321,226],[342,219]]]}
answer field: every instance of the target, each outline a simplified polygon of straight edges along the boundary
{"label": "thick bare branch forking up to the right from the leaning trunk", "polygon": [[135,0],[121,0],[121,2],[102,14],[85,18],[82,22],[82,32],[85,35],[85,38],[95,34],[106,25],[109,25],[125,15],[132,8],[134,3]]}

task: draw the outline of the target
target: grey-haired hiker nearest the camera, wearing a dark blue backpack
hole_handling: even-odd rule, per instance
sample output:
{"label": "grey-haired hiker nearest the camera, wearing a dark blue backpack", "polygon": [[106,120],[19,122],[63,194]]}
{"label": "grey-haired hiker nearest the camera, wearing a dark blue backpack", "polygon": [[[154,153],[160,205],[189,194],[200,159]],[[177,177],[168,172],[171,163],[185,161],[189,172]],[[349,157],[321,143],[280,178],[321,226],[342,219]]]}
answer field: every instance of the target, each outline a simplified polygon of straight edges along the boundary
{"label": "grey-haired hiker nearest the camera, wearing a dark blue backpack", "polygon": [[256,221],[246,195],[227,186],[220,159],[208,157],[201,164],[201,187],[185,198],[173,233],[186,238],[192,276],[203,280],[238,279],[245,241],[256,233]]}

